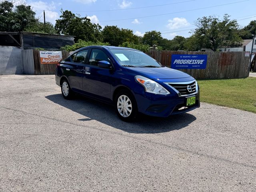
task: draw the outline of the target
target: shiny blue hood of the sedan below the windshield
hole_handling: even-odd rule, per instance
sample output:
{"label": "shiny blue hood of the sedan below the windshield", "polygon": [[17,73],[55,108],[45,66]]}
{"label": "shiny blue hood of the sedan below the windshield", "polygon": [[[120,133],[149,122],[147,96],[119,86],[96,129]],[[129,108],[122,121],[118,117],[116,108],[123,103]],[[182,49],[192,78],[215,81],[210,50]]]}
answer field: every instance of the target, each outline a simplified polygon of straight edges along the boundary
{"label": "shiny blue hood of the sedan below the windshield", "polygon": [[189,74],[168,67],[126,67],[126,69],[132,74],[141,75],[150,79],[177,79],[191,77]]}

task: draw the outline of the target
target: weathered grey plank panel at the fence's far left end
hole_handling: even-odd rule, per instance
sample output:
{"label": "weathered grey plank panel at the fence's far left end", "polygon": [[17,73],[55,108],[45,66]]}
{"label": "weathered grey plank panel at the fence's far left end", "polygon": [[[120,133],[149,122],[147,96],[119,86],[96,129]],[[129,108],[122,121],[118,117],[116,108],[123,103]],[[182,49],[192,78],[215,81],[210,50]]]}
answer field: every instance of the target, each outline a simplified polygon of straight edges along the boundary
{"label": "weathered grey plank panel at the fence's far left end", "polygon": [[30,74],[30,75],[35,74],[33,50],[32,49],[23,50],[22,54],[23,54],[24,73]]}

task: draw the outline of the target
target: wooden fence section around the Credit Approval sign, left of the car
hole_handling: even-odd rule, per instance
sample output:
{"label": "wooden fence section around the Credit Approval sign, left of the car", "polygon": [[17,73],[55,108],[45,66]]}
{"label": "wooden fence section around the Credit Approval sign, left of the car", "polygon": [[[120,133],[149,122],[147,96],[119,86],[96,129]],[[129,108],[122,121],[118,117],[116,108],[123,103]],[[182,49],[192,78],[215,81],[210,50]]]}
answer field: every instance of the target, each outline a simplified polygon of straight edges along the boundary
{"label": "wooden fence section around the Credit Approval sign, left of the car", "polygon": [[[68,51],[62,51],[62,59],[69,55]],[[56,64],[41,64],[39,50],[23,50],[23,64],[25,74],[50,75],[55,74]]]}

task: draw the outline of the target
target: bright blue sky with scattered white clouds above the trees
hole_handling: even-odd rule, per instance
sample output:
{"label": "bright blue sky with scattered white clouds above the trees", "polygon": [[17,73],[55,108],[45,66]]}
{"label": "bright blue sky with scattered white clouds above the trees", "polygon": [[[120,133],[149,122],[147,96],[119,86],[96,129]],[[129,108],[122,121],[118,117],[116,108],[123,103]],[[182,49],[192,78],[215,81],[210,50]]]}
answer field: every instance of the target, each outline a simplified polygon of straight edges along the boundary
{"label": "bright blue sky with scattered white clouds above the trees", "polygon": [[[18,3],[18,2],[16,2]],[[189,37],[194,23],[203,16],[220,19],[229,14],[238,20],[240,27],[256,20],[255,0],[27,0],[36,16],[55,24],[60,18],[60,10],[70,10],[74,14],[87,16],[91,22],[104,26],[118,26],[133,30],[143,36],[145,32],[156,30],[167,39],[176,35]],[[252,8],[251,8],[252,7]]]}

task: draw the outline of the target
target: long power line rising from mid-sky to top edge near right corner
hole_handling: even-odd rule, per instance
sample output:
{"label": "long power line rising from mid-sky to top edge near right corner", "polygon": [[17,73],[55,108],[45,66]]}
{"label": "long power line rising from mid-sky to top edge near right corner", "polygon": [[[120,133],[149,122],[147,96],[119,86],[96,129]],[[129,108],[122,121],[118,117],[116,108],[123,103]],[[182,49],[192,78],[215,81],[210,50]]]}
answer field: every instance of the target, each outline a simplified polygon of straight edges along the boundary
{"label": "long power line rising from mid-sky to top edge near right corner", "polygon": [[169,15],[169,14],[176,14],[176,13],[183,13],[183,12],[190,12],[190,11],[202,10],[202,9],[207,9],[207,8],[225,6],[225,5],[236,4],[236,3],[246,2],[246,1],[249,1],[249,0],[237,1],[237,2],[233,2],[233,3],[226,3],[226,4],[220,4],[220,5],[215,5],[215,6],[197,8],[197,9],[191,9],[191,10],[185,10],[185,11],[178,11],[178,12],[172,12],[172,13],[164,13],[164,14],[142,16],[142,17],[134,17],[134,18],[126,18],[126,19],[107,20],[107,21],[101,21],[101,22],[123,21],[123,20],[132,20],[132,19],[148,18],[148,17],[155,17],[155,16],[163,16],[163,15]]}

